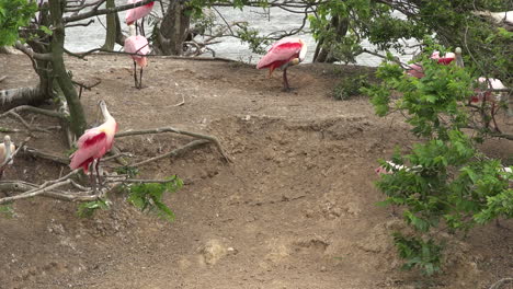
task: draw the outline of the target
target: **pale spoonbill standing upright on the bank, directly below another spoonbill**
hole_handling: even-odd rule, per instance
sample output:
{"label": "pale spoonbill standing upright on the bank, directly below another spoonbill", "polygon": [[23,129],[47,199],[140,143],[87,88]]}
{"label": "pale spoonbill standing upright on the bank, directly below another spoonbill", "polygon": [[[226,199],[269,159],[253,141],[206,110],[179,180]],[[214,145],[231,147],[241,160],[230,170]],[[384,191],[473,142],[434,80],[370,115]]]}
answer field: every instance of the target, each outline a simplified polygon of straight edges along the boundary
{"label": "pale spoonbill standing upright on the bank, directly below another spoonbill", "polygon": [[[142,35],[135,35],[135,27],[130,25],[130,37],[125,39],[125,53],[137,54],[130,55],[134,59],[134,81],[137,89],[142,89],[142,68],[148,65],[146,57],[149,54],[149,44]],[[140,67],[139,81],[137,81],[137,65]]]}

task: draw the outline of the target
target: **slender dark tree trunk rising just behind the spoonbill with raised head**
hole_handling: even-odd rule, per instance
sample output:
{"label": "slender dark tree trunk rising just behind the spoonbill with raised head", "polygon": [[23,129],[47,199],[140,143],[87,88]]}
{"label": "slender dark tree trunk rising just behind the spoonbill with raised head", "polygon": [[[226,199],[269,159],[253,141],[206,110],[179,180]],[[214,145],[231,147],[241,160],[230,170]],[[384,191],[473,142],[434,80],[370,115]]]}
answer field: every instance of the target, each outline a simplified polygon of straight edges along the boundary
{"label": "slender dark tree trunk rising just behind the spoonbill with raised head", "polygon": [[52,35],[52,56],[53,56],[53,73],[57,79],[57,83],[62,91],[66,102],[68,103],[70,115],[70,129],[75,137],[79,137],[86,130],[86,115],[83,113],[82,104],[75,90],[71,78],[66,71],[64,62],[64,43],[65,43],[65,26],[62,23],[62,0],[49,0],[50,18],[54,25],[54,33]]}

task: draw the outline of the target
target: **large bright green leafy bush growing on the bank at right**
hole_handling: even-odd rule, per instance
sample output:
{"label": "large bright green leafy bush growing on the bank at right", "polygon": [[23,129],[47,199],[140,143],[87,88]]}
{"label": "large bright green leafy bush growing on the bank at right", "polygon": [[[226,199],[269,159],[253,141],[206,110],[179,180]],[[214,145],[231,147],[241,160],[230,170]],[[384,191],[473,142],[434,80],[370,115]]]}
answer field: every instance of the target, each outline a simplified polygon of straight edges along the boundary
{"label": "large bright green leafy bush growing on the bank at right", "polygon": [[[435,48],[444,50],[432,45],[425,54]],[[440,271],[442,259],[437,231],[468,233],[476,224],[513,217],[513,174],[478,150],[480,139],[464,132],[470,119],[465,105],[474,93],[472,69],[438,65],[426,56],[420,61],[422,79],[385,62],[376,72],[383,82],[363,91],[378,115],[402,112],[411,131],[424,140],[407,153],[395,153],[392,162],[403,169],[381,162],[392,173],[381,175],[376,185],[386,204],[404,208],[404,221],[413,229],[408,238],[395,235],[404,268],[432,275]],[[399,100],[391,101],[392,93]]]}

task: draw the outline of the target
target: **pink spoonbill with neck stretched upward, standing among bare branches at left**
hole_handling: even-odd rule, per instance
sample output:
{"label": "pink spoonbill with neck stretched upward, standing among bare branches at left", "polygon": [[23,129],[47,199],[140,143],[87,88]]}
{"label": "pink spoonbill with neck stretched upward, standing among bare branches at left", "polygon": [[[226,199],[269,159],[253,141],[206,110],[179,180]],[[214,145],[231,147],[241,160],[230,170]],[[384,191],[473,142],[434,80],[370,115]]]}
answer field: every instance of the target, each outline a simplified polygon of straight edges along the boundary
{"label": "pink spoonbill with neck stretched upward, standing among bare branches at left", "polygon": [[101,183],[99,171],[100,159],[111,150],[112,144],[114,143],[114,135],[117,131],[116,120],[109,113],[105,102],[100,101],[99,104],[102,109],[103,117],[105,118],[105,123],[86,130],[77,141],[78,150],[69,157],[71,159],[69,167],[71,167],[71,170],[82,167],[86,174],[89,171],[89,165],[93,161],[96,161],[95,167],[91,169],[91,185],[94,185],[94,170],[96,171],[96,176]]}

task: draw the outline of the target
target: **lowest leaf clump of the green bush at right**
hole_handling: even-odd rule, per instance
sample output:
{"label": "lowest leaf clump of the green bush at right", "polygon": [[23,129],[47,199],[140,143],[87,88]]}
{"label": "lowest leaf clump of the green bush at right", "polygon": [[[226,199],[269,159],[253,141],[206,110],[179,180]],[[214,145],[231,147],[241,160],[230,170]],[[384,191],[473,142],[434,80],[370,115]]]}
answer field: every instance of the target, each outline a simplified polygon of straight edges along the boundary
{"label": "lowest leaf clump of the green bush at right", "polygon": [[435,241],[423,241],[415,236],[404,236],[394,233],[394,241],[399,255],[407,259],[402,269],[419,268],[422,274],[431,276],[441,270],[442,245]]}

